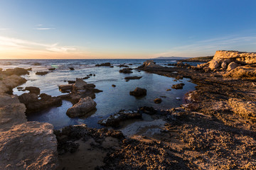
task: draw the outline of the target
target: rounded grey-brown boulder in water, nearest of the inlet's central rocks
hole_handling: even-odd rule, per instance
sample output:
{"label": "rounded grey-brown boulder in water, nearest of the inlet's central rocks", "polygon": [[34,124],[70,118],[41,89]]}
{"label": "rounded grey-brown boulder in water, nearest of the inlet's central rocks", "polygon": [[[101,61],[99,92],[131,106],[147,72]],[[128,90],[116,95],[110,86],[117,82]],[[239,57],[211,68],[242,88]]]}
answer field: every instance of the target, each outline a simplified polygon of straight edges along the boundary
{"label": "rounded grey-brown boulder in water, nearest of the inlet's central rocks", "polygon": [[86,115],[96,107],[96,102],[90,97],[80,98],[80,101],[71,108],[68,108],[67,115],[70,118],[80,117]]}

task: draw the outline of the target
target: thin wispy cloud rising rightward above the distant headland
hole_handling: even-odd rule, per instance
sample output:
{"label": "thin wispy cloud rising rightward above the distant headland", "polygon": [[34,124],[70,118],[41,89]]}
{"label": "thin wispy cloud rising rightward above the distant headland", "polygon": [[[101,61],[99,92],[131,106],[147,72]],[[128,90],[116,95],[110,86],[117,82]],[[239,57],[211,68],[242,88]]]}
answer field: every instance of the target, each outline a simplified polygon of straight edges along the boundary
{"label": "thin wispy cloud rising rightward above the distant headland", "polygon": [[242,50],[242,46],[255,45],[255,43],[256,34],[229,35],[220,38],[200,40],[188,45],[172,47],[167,52],[161,52],[154,56],[195,57],[196,55],[213,55],[216,50]]}

